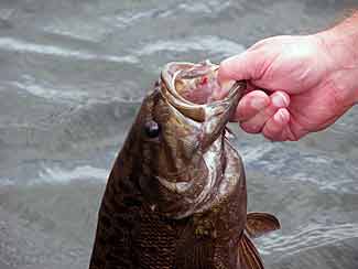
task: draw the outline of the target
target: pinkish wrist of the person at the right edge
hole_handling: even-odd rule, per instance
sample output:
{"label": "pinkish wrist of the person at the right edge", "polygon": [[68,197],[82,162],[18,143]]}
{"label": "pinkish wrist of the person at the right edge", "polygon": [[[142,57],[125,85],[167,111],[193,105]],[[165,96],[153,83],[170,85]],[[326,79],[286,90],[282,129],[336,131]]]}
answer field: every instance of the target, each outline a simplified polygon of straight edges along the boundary
{"label": "pinkish wrist of the person at the right edge", "polygon": [[344,105],[358,104],[358,12],[316,36],[330,60],[328,77]]}

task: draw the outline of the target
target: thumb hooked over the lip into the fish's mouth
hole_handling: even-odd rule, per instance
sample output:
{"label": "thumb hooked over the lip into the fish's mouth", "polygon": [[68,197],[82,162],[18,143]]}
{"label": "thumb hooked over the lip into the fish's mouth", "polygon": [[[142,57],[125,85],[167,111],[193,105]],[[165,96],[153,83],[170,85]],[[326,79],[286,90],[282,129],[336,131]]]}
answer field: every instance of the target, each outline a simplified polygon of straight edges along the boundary
{"label": "thumb hooked over the lip into the fish's mouth", "polygon": [[257,77],[257,69],[260,66],[260,55],[257,51],[246,51],[239,55],[224,60],[218,71],[220,84],[227,80],[251,80]]}

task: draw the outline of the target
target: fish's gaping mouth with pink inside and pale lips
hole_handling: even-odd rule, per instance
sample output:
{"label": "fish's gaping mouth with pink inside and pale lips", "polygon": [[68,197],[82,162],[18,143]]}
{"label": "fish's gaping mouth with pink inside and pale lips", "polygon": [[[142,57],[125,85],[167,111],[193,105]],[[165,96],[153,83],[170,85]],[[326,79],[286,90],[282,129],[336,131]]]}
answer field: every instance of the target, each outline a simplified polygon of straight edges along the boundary
{"label": "fish's gaping mouth with pink inside and pale lips", "polygon": [[[219,85],[218,67],[208,61],[198,64],[169,63],[162,72],[162,94],[182,114],[203,122],[214,105],[229,107],[246,87],[243,82]],[[217,94],[223,96],[220,100],[214,98]]]}

